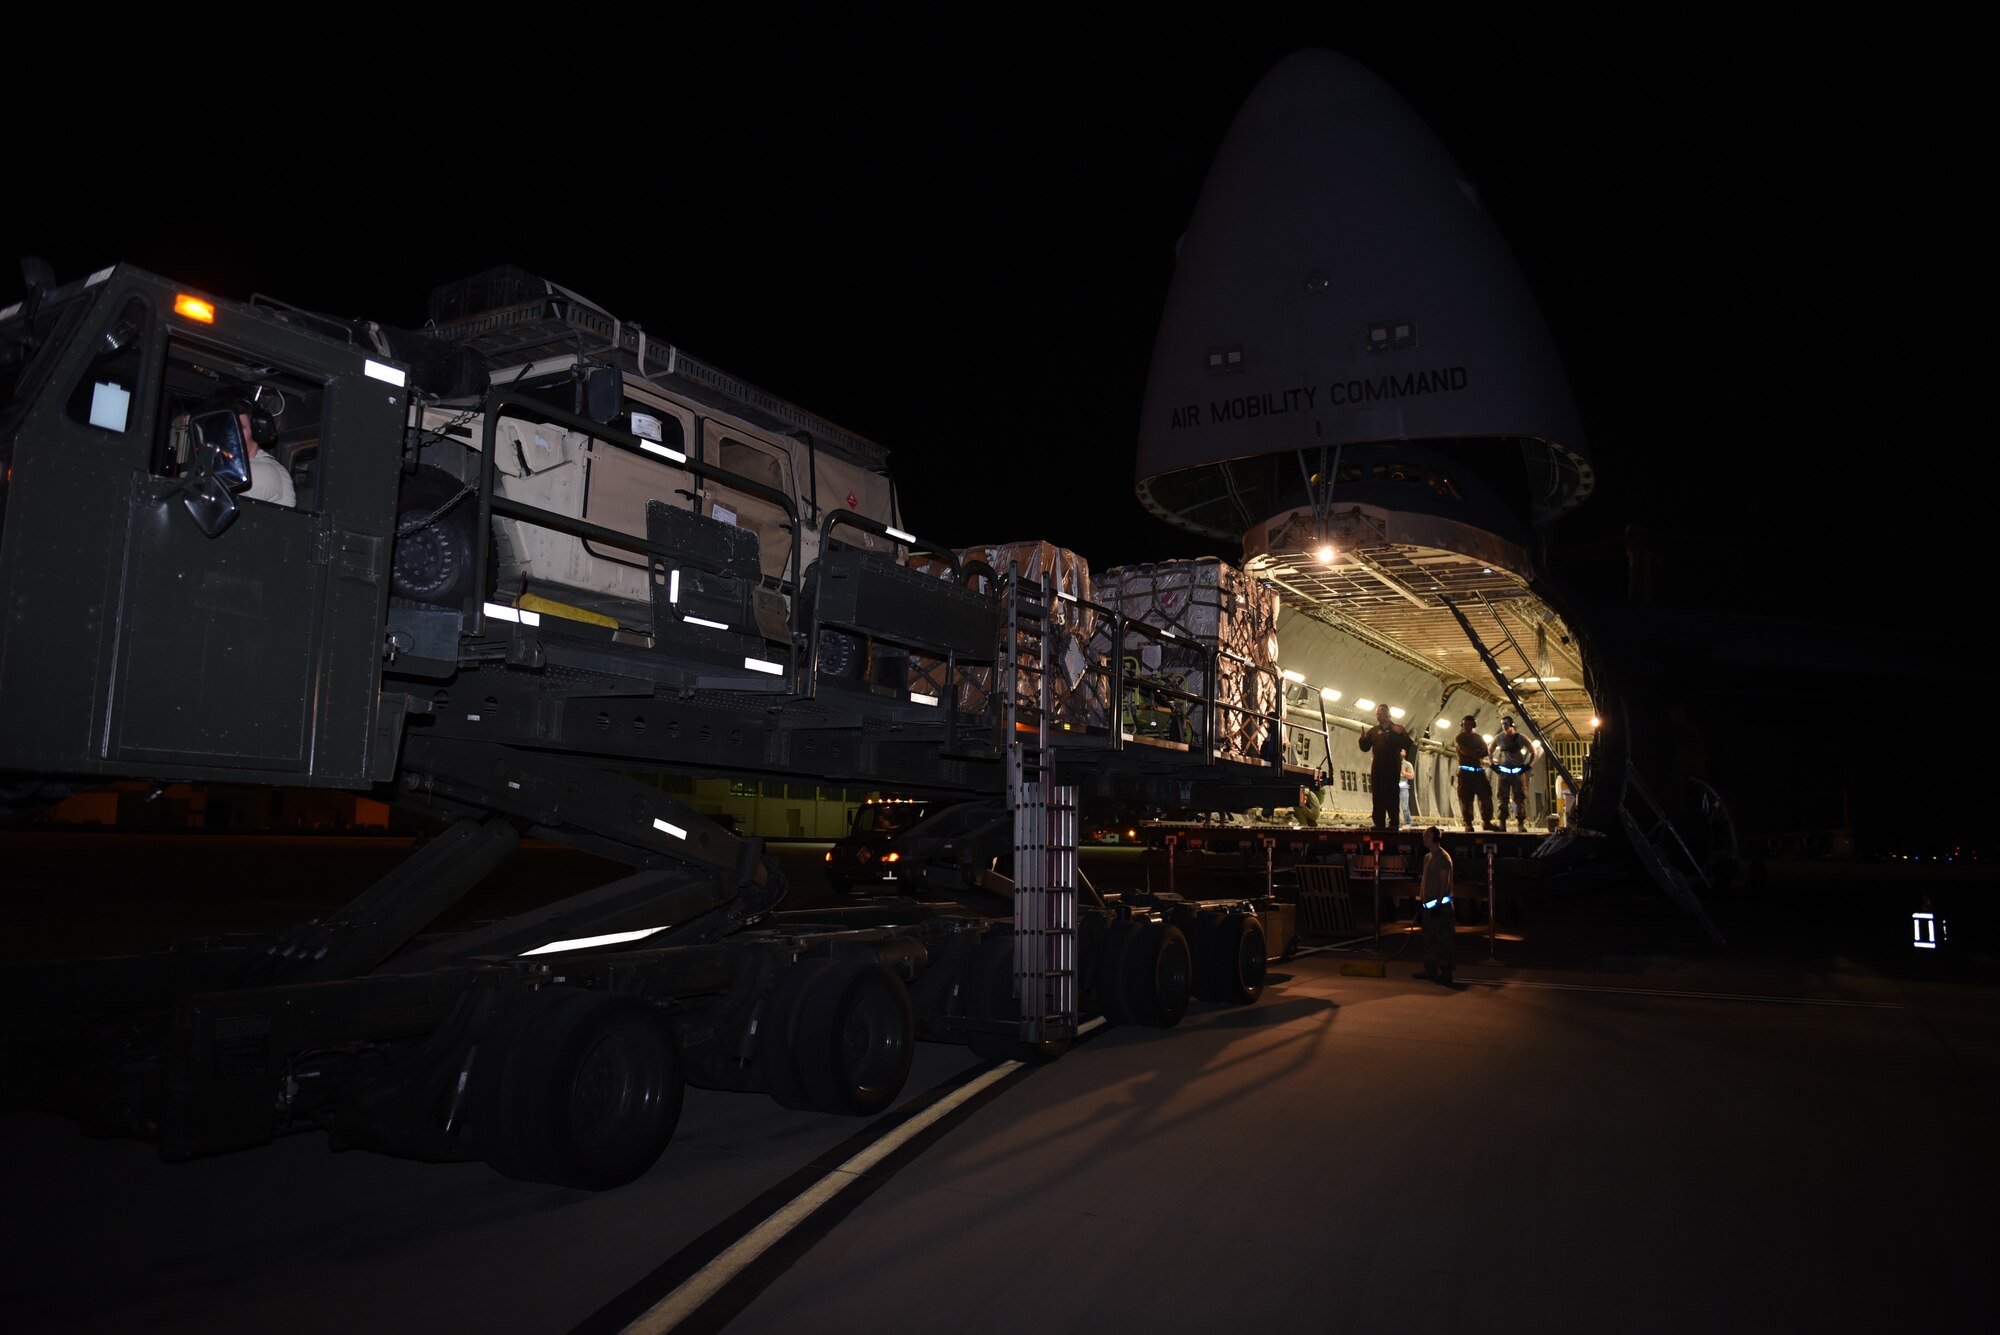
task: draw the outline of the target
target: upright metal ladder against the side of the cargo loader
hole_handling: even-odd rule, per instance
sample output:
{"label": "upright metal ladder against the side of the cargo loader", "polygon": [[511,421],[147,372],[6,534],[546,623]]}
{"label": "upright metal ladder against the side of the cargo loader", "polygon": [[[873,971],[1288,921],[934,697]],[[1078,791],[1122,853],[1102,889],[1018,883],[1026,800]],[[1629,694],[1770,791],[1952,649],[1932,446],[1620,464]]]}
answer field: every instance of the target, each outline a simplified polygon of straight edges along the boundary
{"label": "upright metal ladder against the side of the cargo loader", "polygon": [[[1014,811],[1014,995],[1028,1043],[1076,1035],[1076,787],[1056,783],[1048,747],[1048,590],[1008,572],[998,687],[1006,707],[1006,797]],[[1022,681],[1036,699],[1020,725]],[[1032,737],[1032,741],[1028,739]]]}

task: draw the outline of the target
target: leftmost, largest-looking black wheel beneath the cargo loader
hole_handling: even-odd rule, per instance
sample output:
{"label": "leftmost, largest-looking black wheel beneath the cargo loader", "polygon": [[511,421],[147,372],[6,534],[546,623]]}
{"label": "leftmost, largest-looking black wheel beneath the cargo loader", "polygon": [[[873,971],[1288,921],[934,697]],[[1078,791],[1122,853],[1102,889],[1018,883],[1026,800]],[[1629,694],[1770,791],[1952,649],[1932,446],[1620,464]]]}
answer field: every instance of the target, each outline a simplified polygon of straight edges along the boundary
{"label": "leftmost, largest-looking black wheel beneath the cargo loader", "polygon": [[644,1001],[576,987],[496,1025],[476,1137],[506,1177],[604,1191],[650,1169],[680,1121],[680,1051]]}

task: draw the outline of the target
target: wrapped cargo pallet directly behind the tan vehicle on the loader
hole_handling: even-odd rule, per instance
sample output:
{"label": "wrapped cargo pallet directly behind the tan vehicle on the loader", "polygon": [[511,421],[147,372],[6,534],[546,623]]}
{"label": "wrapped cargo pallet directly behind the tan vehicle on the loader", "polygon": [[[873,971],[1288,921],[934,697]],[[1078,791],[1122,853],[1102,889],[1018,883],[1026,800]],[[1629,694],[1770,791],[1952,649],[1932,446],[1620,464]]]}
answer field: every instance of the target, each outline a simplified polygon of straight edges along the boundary
{"label": "wrapped cargo pallet directly behind the tan vehicle on the loader", "polygon": [[[1096,614],[1082,606],[1090,600],[1090,562],[1068,548],[1052,542],[1004,542],[978,548],[962,548],[958,560],[984,562],[996,580],[1010,572],[1020,580],[1040,584],[1048,598],[1046,634],[1036,644],[1032,634],[1022,634],[1022,671],[1018,685],[1018,707],[1024,719],[1034,719],[1042,675],[1048,677],[1048,717],[1050,723],[1070,723],[1084,727],[1100,723],[1108,711],[1110,679],[1104,656],[1090,656],[1090,640],[1096,632]],[[912,556],[910,564],[936,576],[948,576],[950,568],[928,556]],[[970,588],[994,592],[994,586],[976,576]],[[1064,598],[1068,594],[1068,598]],[[1080,602],[1072,602],[1080,600]],[[958,707],[966,713],[982,713],[992,703],[992,668],[962,668],[958,673]],[[916,689],[942,691],[942,664],[932,664],[926,685]]]}

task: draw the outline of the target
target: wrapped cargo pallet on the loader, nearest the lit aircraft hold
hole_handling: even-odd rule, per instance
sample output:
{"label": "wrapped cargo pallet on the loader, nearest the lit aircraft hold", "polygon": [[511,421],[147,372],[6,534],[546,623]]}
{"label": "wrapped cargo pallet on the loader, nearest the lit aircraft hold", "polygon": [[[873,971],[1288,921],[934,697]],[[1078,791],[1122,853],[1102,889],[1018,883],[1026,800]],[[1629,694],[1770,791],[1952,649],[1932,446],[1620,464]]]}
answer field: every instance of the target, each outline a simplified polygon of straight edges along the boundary
{"label": "wrapped cargo pallet on the loader, nearest the lit aircraft hold", "polygon": [[[1270,719],[1278,715],[1278,596],[1272,590],[1228,562],[1200,558],[1108,570],[1096,582],[1096,602],[1128,622],[1204,646],[1162,644],[1128,630],[1122,652],[1138,668],[1142,695],[1152,679],[1206,697],[1206,650],[1216,648],[1216,751],[1236,759],[1276,757]],[[1202,737],[1206,705],[1184,707],[1190,725],[1184,739],[1192,743]]]}

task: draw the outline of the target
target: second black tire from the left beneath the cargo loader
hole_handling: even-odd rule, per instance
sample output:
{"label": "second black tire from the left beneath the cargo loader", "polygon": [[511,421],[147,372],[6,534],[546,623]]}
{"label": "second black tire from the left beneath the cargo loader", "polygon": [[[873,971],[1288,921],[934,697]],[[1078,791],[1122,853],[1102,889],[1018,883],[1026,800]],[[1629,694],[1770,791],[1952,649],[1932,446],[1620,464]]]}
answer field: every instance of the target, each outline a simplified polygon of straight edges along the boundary
{"label": "second black tire from the left beneath the cargo loader", "polygon": [[878,963],[832,959],[798,1015],[798,1075],[822,1113],[872,1117],[896,1101],[916,1055],[902,979]]}

